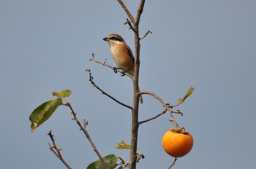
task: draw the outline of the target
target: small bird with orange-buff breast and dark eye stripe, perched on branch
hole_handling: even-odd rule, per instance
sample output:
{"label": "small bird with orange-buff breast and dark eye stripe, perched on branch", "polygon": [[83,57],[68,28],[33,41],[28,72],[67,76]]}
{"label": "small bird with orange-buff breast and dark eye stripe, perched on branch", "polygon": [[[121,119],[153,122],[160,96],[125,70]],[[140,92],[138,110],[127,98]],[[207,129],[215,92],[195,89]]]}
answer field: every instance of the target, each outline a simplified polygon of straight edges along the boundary
{"label": "small bird with orange-buff breast and dark eye stripe, perched on branch", "polygon": [[[122,69],[121,76],[124,76],[125,73],[134,76],[135,71],[135,58],[132,54],[132,50],[129,48],[124,39],[118,34],[110,34],[103,39],[108,42],[110,47],[110,52],[113,60],[116,63],[118,68],[113,68],[116,72],[116,69]],[[140,92],[140,88],[139,91]],[[143,103],[143,98],[140,95],[140,103]]]}

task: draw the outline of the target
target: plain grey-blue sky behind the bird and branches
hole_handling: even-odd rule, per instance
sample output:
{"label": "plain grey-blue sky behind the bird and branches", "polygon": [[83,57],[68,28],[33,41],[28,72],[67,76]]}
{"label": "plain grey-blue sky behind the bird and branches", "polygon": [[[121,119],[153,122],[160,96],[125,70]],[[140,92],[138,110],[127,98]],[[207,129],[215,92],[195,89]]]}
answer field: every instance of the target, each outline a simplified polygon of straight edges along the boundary
{"label": "plain grey-blue sky behind the bird and branches", "polygon": [[[135,17],[139,1],[124,1]],[[146,1],[140,21],[140,90],[176,104],[189,87],[195,92],[174,114],[194,137],[187,156],[173,168],[253,168],[256,157],[255,1]],[[131,112],[99,90],[132,105],[132,82],[91,59],[115,66],[108,34],[120,34],[134,51],[127,15],[117,1],[1,1],[0,87],[2,168],[64,168],[50,152],[52,130],[64,160],[86,168],[97,160],[89,141],[61,106],[31,133],[29,114],[54,99],[51,92],[72,90],[70,100],[80,122],[89,120],[89,135],[102,156],[116,154],[129,162]],[[161,113],[161,103],[143,95],[139,119]],[[174,109],[176,110],[176,109]],[[170,116],[140,126],[138,149],[145,155],[138,168],[168,168],[162,149]]]}

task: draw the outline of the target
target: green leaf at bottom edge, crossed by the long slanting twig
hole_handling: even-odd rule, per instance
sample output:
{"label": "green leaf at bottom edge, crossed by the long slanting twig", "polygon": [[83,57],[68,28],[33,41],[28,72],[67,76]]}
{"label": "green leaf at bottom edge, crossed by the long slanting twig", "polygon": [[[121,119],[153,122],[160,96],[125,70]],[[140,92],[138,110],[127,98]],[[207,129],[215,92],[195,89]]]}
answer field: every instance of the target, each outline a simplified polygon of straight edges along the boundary
{"label": "green leaf at bottom edge, crossed by the long slanting twig", "polygon": [[[104,162],[108,165],[108,168],[113,169],[116,168],[118,156],[115,156],[114,154],[109,154],[105,157],[103,157]],[[105,166],[102,164],[100,160],[97,160],[95,162],[91,162],[90,165],[88,165],[87,169],[105,169]]]}

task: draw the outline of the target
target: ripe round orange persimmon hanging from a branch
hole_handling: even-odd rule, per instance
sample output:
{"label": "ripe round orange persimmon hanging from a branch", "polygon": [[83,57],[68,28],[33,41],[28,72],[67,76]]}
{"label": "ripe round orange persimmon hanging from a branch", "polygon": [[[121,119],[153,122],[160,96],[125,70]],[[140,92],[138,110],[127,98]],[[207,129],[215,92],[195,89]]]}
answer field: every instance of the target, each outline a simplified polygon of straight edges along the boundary
{"label": "ripe round orange persimmon hanging from a branch", "polygon": [[170,128],[162,137],[162,146],[165,152],[172,157],[183,157],[192,149],[194,140],[190,133],[185,132],[184,128],[174,130]]}

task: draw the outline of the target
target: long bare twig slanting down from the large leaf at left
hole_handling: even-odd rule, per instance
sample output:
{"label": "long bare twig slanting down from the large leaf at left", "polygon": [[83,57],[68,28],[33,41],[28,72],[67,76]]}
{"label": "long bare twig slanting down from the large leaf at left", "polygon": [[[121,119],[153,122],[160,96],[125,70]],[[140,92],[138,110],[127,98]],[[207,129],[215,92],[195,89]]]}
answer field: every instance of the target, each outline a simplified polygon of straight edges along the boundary
{"label": "long bare twig slanting down from the large leaf at left", "polygon": [[[109,168],[108,168],[108,165],[105,163],[105,161],[102,159],[102,156],[99,154],[99,152],[98,152],[96,146],[94,146],[94,143],[91,141],[90,135],[88,134],[87,130],[85,130],[85,127],[83,127],[83,126],[80,124],[80,122],[78,121],[78,118],[76,117],[76,113],[75,113],[75,111],[72,109],[71,104],[70,104],[70,103],[67,103],[66,106],[69,106],[69,109],[71,109],[71,111],[72,111],[71,113],[73,114],[75,121],[78,123],[78,125],[79,125],[79,127],[80,127],[80,130],[82,130],[83,133],[86,135],[86,138],[89,140],[91,146],[94,148],[94,152],[95,152],[95,153],[97,154],[97,156],[99,157],[99,160],[102,162],[102,164],[105,166],[105,168],[109,169]],[[87,125],[87,124],[88,124],[88,122],[85,122],[85,120],[83,120],[83,122],[84,122],[83,125]]]}

